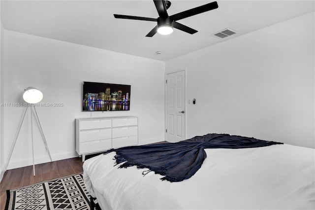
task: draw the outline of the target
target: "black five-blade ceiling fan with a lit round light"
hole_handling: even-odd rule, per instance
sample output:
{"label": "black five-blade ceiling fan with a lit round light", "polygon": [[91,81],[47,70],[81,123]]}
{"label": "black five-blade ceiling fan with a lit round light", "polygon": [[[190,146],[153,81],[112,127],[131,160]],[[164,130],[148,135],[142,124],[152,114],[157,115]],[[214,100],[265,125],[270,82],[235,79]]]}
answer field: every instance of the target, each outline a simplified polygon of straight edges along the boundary
{"label": "black five-blade ceiling fan with a lit round light", "polygon": [[149,34],[146,35],[148,37],[152,37],[157,32],[163,35],[171,34],[173,32],[173,28],[179,29],[189,34],[194,34],[198,31],[192,28],[189,28],[188,26],[185,26],[183,24],[180,24],[176,21],[218,8],[217,1],[214,1],[211,3],[207,3],[205,5],[198,6],[198,7],[169,16],[167,14],[166,9],[170,7],[171,5],[170,1],[154,0],[154,4],[158,10],[158,16],[159,16],[158,18],[138,17],[138,16],[130,16],[130,15],[117,15],[117,14],[114,14],[114,17],[120,18],[120,19],[145,20],[145,21],[158,22],[157,26],[154,27],[151,30],[151,32],[149,32]]}

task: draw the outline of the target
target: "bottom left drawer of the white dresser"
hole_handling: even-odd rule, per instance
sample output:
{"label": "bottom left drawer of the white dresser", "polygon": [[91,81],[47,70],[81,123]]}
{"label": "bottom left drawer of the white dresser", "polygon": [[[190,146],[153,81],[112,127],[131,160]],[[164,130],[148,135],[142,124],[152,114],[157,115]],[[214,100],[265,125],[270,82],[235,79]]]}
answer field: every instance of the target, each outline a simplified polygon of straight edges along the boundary
{"label": "bottom left drawer of the white dresser", "polygon": [[104,151],[112,148],[112,140],[95,140],[80,142],[80,153]]}

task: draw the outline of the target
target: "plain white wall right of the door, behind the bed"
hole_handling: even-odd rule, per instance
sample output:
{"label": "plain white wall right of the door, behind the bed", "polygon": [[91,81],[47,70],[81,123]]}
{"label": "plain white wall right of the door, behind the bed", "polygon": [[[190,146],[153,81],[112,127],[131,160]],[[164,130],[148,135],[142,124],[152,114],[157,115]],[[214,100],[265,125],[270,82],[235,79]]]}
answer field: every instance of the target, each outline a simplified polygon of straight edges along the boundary
{"label": "plain white wall right of the door, behind the bed", "polygon": [[[187,68],[188,138],[228,133],[315,148],[314,12],[165,63]],[[188,100],[187,100],[188,101]]]}

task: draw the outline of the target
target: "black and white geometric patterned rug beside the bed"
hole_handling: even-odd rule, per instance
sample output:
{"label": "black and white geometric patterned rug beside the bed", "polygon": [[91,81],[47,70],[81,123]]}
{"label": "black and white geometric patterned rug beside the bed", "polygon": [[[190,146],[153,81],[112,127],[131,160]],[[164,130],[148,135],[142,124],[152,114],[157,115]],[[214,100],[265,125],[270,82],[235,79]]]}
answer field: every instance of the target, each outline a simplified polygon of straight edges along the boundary
{"label": "black and white geometric patterned rug beside the bed", "polygon": [[83,175],[71,175],[7,191],[5,210],[90,210]]}

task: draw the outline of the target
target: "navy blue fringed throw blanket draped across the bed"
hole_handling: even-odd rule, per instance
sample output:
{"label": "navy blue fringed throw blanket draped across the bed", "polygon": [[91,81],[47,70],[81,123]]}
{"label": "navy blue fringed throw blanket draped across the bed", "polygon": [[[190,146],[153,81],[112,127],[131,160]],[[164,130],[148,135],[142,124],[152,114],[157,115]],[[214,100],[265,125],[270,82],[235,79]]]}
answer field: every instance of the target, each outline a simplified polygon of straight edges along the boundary
{"label": "navy blue fringed throw blanket draped across the bed", "polygon": [[190,178],[201,167],[207,157],[204,149],[207,148],[250,148],[283,144],[275,141],[257,140],[254,138],[231,136],[228,134],[207,134],[176,143],[159,143],[141,146],[127,146],[111,149],[104,154],[115,151],[119,168],[137,166],[147,168],[163,175],[162,180],[171,182]]}

